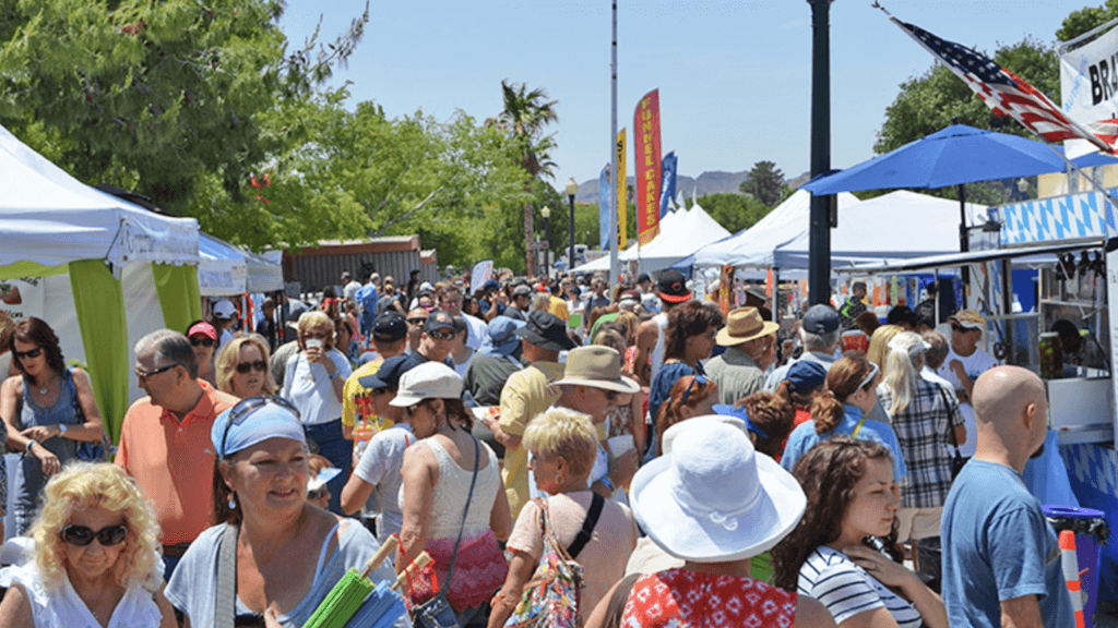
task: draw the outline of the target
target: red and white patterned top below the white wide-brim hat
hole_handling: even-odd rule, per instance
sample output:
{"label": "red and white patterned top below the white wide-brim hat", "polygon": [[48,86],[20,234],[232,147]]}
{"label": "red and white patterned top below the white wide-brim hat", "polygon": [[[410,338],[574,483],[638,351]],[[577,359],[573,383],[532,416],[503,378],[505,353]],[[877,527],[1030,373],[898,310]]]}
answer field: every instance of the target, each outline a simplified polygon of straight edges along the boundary
{"label": "red and white patterned top below the white wide-brim hat", "polygon": [[633,584],[624,628],[792,628],[796,593],[751,578],[669,569]]}

